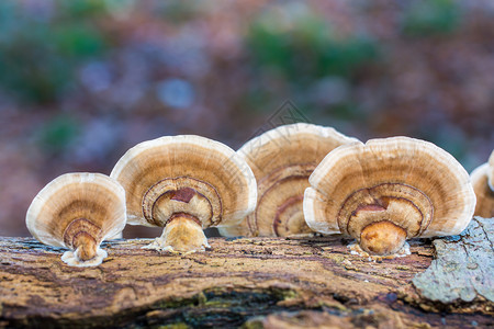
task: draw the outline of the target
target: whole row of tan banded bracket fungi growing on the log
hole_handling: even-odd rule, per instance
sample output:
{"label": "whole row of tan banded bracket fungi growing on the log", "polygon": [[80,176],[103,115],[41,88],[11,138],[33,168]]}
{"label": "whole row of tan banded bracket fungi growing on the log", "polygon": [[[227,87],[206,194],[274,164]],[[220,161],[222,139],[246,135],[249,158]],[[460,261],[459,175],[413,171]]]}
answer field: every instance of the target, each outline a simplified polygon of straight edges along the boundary
{"label": "whole row of tan banded bracket fungi growing on the log", "polygon": [[203,229],[218,227],[224,236],[343,234],[357,240],[353,252],[392,258],[409,253],[407,239],[460,234],[474,211],[494,216],[494,152],[469,177],[427,141],[362,144],[299,123],[237,152],[193,135],[141,143],[110,177],[67,173],[48,183],[26,225],[40,241],[68,248],[61,260],[75,266],[100,264],[100,243],[125,224],[162,227],[145,247],[158,251],[203,251]]}

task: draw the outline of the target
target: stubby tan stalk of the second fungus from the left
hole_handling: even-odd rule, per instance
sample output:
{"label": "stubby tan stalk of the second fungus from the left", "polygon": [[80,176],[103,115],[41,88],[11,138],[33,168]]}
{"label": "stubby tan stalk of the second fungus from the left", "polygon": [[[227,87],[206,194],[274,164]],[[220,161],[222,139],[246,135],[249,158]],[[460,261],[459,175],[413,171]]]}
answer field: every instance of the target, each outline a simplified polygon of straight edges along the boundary
{"label": "stubby tan stalk of the second fungus from the left", "polygon": [[209,247],[201,222],[192,215],[178,213],[168,219],[161,237],[146,248],[187,253],[204,251]]}

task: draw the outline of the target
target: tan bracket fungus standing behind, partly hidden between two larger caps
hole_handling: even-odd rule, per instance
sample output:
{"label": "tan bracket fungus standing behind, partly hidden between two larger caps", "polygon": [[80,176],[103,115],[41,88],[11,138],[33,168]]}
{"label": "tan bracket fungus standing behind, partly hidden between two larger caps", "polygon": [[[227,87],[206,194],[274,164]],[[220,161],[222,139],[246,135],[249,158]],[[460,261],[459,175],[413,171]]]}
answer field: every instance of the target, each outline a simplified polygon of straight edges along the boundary
{"label": "tan bracket fungus standing behind, partly hidden between two larger caps", "polygon": [[336,147],[357,141],[334,128],[297,123],[268,131],[237,152],[257,180],[256,211],[238,225],[220,228],[223,236],[284,237],[312,230],[302,202],[308,177]]}

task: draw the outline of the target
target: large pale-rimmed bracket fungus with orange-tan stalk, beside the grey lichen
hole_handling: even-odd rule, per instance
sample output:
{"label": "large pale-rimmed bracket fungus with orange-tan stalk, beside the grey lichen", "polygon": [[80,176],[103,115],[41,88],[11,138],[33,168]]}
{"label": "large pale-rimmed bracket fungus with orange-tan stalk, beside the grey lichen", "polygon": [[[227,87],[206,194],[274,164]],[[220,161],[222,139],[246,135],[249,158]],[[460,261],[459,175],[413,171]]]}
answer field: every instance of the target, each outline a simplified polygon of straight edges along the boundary
{"label": "large pale-rimmed bracket fungus with orange-tan stalk, beside the grey lichen", "polygon": [[308,179],[304,214],[323,234],[357,239],[362,256],[407,254],[406,239],[460,234],[475,195],[467,171],[447,151],[408,137],[344,145]]}

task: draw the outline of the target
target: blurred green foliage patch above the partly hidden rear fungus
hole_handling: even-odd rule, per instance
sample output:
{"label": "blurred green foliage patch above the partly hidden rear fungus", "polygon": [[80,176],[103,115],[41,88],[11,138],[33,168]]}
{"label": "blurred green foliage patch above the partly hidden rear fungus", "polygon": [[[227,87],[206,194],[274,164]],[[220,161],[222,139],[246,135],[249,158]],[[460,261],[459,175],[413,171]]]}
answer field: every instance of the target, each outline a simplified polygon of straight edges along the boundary
{"label": "blurred green foliage patch above the partly hidden rear fungus", "polygon": [[339,76],[351,79],[378,57],[369,36],[338,36],[313,12],[266,12],[248,34],[248,48],[261,69],[271,67],[295,84]]}

